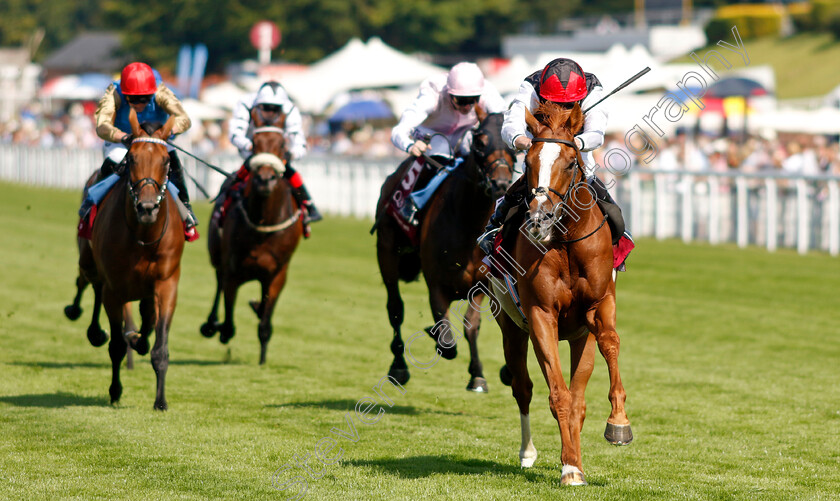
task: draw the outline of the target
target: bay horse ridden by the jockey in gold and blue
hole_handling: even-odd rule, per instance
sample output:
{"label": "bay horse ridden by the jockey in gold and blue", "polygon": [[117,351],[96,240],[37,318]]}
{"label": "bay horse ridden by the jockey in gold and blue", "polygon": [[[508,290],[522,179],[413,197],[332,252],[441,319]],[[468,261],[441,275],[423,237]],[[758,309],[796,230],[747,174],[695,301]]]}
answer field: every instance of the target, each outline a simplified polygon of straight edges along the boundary
{"label": "bay horse ridden by the jockey in gold and blue", "polygon": [[[122,395],[120,364],[127,344],[138,354],[149,353],[152,328],[155,344],[152,367],[157,376],[154,408],[168,408],[165,395],[169,367],[169,328],[175,312],[184,233],[178,207],[166,193],[169,176],[167,142],[174,119],[157,130],[141,128],[134,110],[129,114],[135,139],[126,153],[124,175],[105,196],[93,223],[90,245],[80,249],[79,268],[84,280],[93,285],[94,314],[88,337],[94,345],[104,343],[107,334],[98,326],[98,306],[105,307],[111,332],[111,403]],[[78,283],[77,283],[78,285]],[[130,301],[140,301],[139,332],[122,332],[124,311]],[[133,323],[133,322],[132,322]]]}

